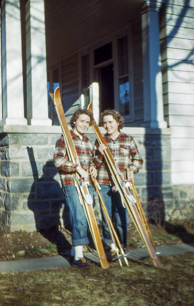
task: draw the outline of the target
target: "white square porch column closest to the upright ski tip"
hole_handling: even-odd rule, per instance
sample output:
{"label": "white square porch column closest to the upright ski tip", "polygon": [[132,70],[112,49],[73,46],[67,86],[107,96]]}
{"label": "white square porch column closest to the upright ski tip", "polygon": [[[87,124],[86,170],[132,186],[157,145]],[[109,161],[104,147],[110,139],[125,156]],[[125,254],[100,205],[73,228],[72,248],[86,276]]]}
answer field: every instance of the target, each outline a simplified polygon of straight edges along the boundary
{"label": "white square porch column closest to the upright ski tip", "polygon": [[44,0],[26,3],[27,120],[52,125],[48,118]]}

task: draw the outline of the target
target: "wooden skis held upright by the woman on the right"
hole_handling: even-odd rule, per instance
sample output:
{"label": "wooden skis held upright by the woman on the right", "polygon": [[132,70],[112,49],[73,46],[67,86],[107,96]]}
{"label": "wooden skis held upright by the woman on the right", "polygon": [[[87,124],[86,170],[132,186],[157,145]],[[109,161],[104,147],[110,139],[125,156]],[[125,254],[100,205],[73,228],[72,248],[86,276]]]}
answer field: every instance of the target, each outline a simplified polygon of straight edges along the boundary
{"label": "wooden skis held upright by the woman on the right", "polygon": [[[92,111],[92,103],[90,103],[88,105],[88,109]],[[103,143],[107,146],[106,141],[104,140],[104,137],[102,136],[99,127],[97,125],[96,122],[94,122],[92,124],[92,127],[95,131],[97,140],[100,143]],[[114,158],[111,154],[111,151],[109,150],[109,147],[107,147],[104,151],[104,158],[106,160],[107,166],[110,170],[110,173],[112,175],[112,179],[115,183],[115,186],[117,188],[117,190],[119,191],[120,195],[121,195],[121,200],[124,204],[124,206],[127,208],[142,240],[144,241],[147,250],[150,254],[150,257],[153,261],[153,264],[158,267],[161,265],[159,258],[156,255],[155,249],[150,241],[148,232],[144,226],[144,224],[142,223],[142,219],[140,217],[140,214],[137,210],[137,207],[135,205],[136,200],[133,197],[133,195],[130,193],[130,190],[128,188],[128,186],[125,183],[125,179],[122,175],[122,173],[120,172],[118,166],[115,164]]]}

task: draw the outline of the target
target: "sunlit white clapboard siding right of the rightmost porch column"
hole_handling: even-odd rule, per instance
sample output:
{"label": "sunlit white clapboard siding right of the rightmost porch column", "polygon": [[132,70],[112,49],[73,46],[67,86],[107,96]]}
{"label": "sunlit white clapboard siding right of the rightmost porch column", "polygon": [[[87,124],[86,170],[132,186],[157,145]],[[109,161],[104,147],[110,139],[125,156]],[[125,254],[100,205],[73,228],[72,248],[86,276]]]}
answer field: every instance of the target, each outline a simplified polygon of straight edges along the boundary
{"label": "sunlit white clapboard siding right of the rightmost porch column", "polygon": [[[165,120],[172,129],[172,183],[194,183],[194,0],[170,1],[161,22]],[[189,7],[192,5],[193,7]]]}

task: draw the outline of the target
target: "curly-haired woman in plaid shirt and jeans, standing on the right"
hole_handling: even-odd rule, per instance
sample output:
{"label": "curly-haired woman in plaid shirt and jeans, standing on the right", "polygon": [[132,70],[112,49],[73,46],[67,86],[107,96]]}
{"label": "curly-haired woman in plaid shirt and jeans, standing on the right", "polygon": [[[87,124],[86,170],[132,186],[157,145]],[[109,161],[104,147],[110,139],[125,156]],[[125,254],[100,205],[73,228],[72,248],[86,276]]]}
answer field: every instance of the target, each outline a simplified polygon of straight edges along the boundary
{"label": "curly-haired woman in plaid shirt and jeans, standing on the right", "polygon": [[[142,166],[143,159],[133,137],[121,131],[124,126],[124,118],[117,110],[104,110],[100,115],[100,124],[106,130],[104,135],[106,145],[95,141],[93,162],[98,169],[97,180],[101,187],[101,196],[110,218],[116,225],[122,246],[125,248],[127,245],[127,209],[122,204],[119,191],[114,190],[114,182],[103,157],[103,150],[107,146],[109,147],[115,163],[124,176],[126,175],[126,169],[129,167],[131,180],[134,179],[134,173],[137,173]],[[102,227],[103,241],[108,249],[107,258],[112,260],[117,253],[103,211]]]}

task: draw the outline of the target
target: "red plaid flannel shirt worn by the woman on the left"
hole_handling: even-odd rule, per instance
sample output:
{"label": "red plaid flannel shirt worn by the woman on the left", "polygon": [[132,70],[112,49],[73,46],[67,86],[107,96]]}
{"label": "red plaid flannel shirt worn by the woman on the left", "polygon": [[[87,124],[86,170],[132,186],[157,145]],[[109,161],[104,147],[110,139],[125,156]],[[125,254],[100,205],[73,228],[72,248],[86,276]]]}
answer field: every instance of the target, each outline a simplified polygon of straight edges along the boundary
{"label": "red plaid flannel shirt worn by the woman on the left", "polygon": [[[84,135],[83,138],[80,139],[80,137],[72,130],[70,130],[70,133],[77,151],[80,165],[84,170],[89,171],[90,166],[94,165],[92,162],[92,142]],[[77,164],[68,159],[63,135],[61,135],[56,141],[53,161],[54,165],[58,168],[62,186],[74,185],[72,173],[76,172]],[[91,183],[92,182],[90,180],[89,185]]]}

